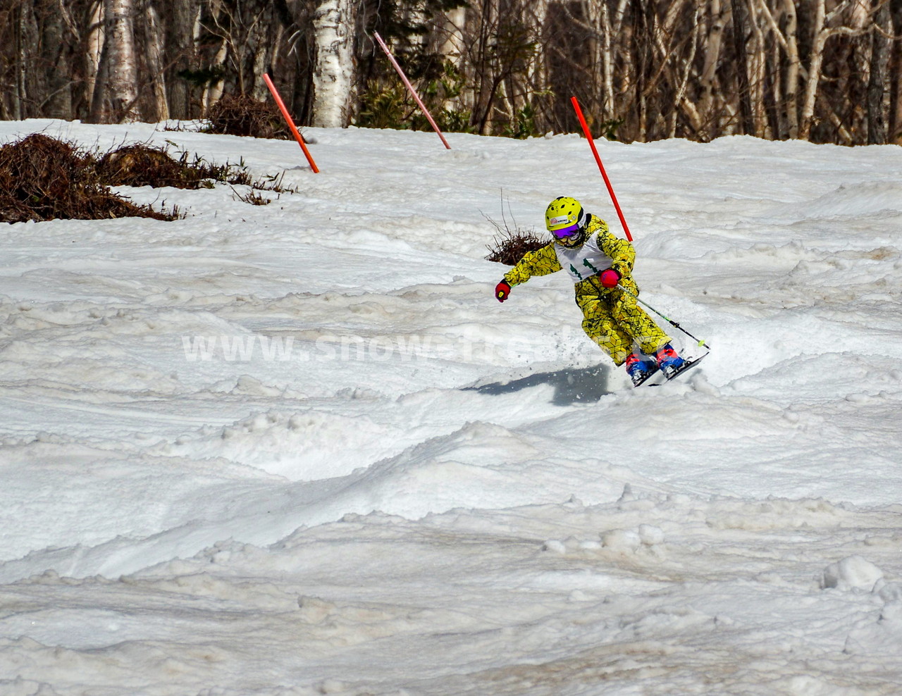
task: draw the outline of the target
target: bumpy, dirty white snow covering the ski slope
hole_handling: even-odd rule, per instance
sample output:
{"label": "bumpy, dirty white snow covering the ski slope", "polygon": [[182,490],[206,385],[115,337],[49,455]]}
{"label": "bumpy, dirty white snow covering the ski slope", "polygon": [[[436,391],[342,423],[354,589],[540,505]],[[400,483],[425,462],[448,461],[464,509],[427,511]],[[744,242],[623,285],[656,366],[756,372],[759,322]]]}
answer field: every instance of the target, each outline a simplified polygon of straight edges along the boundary
{"label": "bumpy, dirty white snow covering the ski slope", "polygon": [[0,693],[902,692],[902,148],[599,142],[713,349],[631,389],[483,259],[561,195],[623,234],[579,137],[165,125],[0,124],[291,189],[4,225]]}

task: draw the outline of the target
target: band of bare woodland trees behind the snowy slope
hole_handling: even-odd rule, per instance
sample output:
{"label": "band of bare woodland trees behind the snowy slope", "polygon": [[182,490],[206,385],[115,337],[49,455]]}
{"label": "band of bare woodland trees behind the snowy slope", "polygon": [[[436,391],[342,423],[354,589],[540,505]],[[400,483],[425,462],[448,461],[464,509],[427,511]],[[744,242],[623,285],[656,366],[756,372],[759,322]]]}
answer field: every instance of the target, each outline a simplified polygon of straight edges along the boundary
{"label": "band of bare woodland trees behind the snowy slope", "polygon": [[0,118],[428,127],[373,32],[447,131],[902,144],[902,0],[5,0]]}

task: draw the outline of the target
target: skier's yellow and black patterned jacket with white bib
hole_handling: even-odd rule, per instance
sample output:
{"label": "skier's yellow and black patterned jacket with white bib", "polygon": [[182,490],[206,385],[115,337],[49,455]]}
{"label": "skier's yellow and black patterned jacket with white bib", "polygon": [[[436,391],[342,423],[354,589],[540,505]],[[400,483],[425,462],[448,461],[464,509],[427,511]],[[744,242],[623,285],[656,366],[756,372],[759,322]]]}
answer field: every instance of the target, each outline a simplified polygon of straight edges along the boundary
{"label": "skier's yellow and black patterned jacket with white bib", "polygon": [[597,278],[605,269],[613,269],[621,274],[624,285],[633,286],[630,279],[632,264],[636,261],[636,250],[630,242],[618,239],[608,230],[608,224],[597,215],[590,215],[586,225],[585,243],[575,249],[568,249],[552,242],[535,252],[527,252],[520,262],[504,274],[511,284],[520,285],[533,276],[547,276],[558,270],[566,270],[574,281],[576,301],[582,295],[599,295],[610,290],[602,288]]}

